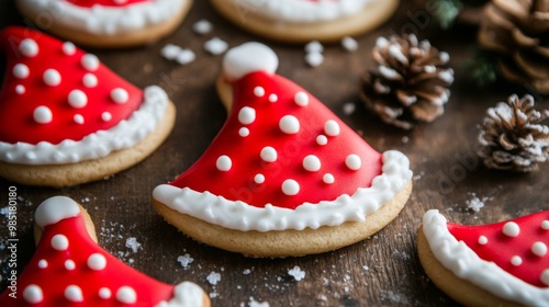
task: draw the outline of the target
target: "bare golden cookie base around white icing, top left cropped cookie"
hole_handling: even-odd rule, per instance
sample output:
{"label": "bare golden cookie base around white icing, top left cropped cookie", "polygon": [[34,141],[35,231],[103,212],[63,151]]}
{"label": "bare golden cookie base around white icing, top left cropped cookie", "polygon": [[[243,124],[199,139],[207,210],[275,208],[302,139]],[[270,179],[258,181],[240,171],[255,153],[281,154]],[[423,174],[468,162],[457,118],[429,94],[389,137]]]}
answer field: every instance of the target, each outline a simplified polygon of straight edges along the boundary
{"label": "bare golden cookie base around white icing, top left cropped cookie", "polygon": [[[141,30],[121,31],[114,35],[93,34],[87,31],[72,29],[65,24],[59,24],[55,20],[44,27],[45,31],[53,33],[64,39],[70,41],[78,45],[90,46],[96,48],[123,48],[134,47],[153,43],[164,36],[169,35],[179,26],[183,18],[189,12],[193,0],[184,1],[184,4],[172,18],[155,24],[147,25]],[[30,19],[34,24],[41,26],[41,18],[43,11],[34,7],[26,5],[22,1],[15,1],[19,11]]]}

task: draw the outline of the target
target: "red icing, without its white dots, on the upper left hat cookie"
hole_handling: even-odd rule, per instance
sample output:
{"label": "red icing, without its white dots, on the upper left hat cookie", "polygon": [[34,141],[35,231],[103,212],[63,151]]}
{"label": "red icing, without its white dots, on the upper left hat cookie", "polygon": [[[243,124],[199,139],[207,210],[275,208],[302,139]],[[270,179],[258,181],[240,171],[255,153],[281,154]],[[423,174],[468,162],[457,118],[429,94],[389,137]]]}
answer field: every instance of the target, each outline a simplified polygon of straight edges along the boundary
{"label": "red icing, without its white dots, on the upper left hat cookie", "polygon": [[[20,52],[19,46],[24,38],[32,38],[37,43],[36,56],[29,57]],[[80,140],[89,134],[112,128],[139,107],[143,101],[141,89],[116,76],[102,64],[99,64],[99,68],[94,71],[85,69],[80,60],[86,53],[76,48],[74,55],[65,55],[63,44],[44,33],[24,27],[8,27],[0,33],[0,50],[3,50],[8,59],[0,89],[1,141],[58,144],[65,139]],[[13,68],[18,64],[29,67],[30,75],[25,79],[13,76]],[[44,82],[43,75],[46,69],[59,72],[60,84],[49,87]],[[88,72],[97,77],[97,87],[85,87],[82,78]],[[24,87],[24,93],[19,94],[15,91],[18,86]],[[126,103],[113,102],[110,95],[115,88],[124,89],[128,93],[130,99]],[[81,90],[88,98],[87,105],[80,109],[72,107],[68,103],[69,93],[76,89]],[[41,105],[52,111],[51,123],[38,124],[33,120],[34,110]],[[109,112],[112,118],[103,121],[101,118],[103,112]],[[75,122],[77,114],[82,116],[83,124]]]}

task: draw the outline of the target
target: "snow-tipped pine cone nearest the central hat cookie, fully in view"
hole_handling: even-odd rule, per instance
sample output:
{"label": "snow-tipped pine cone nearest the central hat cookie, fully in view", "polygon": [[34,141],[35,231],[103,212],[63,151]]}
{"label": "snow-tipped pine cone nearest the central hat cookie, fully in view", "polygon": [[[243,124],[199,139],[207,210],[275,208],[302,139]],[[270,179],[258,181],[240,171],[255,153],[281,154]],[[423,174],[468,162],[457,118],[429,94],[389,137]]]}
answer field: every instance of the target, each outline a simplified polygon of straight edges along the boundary
{"label": "snow-tipped pine cone nearest the central hat cookie, fully in view", "polygon": [[442,115],[453,70],[447,53],[415,35],[379,37],[372,50],[378,67],[365,73],[361,100],[385,123],[410,129],[414,122]]}

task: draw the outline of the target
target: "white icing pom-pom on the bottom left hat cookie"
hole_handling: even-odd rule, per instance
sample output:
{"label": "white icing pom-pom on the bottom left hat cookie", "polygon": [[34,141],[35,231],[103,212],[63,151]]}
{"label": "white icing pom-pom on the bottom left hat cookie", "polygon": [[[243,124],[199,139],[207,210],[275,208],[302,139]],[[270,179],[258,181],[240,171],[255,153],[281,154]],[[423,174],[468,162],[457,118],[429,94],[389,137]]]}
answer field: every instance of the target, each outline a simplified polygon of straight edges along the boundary
{"label": "white icing pom-pom on the bottom left hat cookie", "polygon": [[34,213],[34,221],[41,228],[44,228],[79,214],[80,207],[75,201],[67,196],[53,196],[38,205]]}

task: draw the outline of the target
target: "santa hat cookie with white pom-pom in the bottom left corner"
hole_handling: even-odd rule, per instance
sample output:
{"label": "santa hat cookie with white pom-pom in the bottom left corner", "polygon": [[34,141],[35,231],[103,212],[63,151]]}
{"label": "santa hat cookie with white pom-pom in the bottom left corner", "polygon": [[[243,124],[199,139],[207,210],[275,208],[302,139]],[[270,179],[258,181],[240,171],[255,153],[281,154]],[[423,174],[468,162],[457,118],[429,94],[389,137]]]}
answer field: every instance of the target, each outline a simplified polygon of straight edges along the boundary
{"label": "santa hat cookie with white pom-pom in the bottom left corner", "polygon": [[44,201],[35,224],[36,252],[0,306],[210,306],[198,285],[161,283],[99,247],[89,215],[71,198]]}

